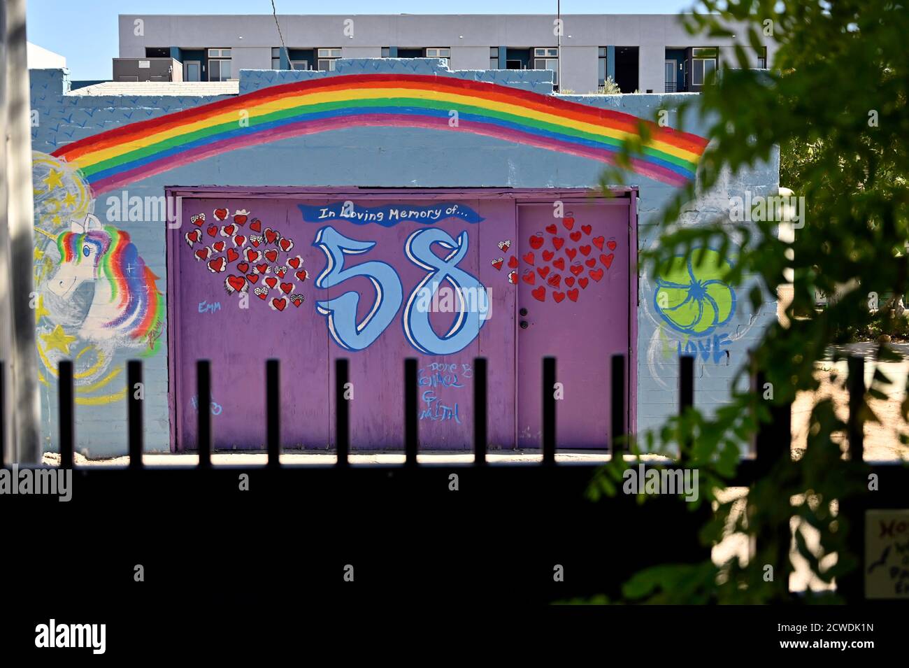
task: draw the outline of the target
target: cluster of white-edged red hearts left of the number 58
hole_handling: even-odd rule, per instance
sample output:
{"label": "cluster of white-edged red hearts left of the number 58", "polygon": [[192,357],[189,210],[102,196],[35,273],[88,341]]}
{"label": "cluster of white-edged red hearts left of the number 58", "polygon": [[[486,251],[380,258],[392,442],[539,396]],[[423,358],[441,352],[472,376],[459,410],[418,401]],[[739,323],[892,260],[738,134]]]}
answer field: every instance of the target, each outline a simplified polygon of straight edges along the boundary
{"label": "cluster of white-edged red hearts left of the number 58", "polygon": [[[213,215],[213,223],[206,221],[205,214],[191,216],[193,228],[184,238],[195,259],[204,262],[208,271],[227,274],[227,294],[252,291],[275,311],[284,311],[288,304],[299,307],[304,303],[305,297],[295,292],[293,281],[303,283],[309,274],[303,268],[303,258],[290,255],[293,239],[271,227],[263,229],[262,221],[250,220],[245,209],[237,209],[230,220],[226,208],[215,209]],[[205,245],[209,240],[214,241]]]}

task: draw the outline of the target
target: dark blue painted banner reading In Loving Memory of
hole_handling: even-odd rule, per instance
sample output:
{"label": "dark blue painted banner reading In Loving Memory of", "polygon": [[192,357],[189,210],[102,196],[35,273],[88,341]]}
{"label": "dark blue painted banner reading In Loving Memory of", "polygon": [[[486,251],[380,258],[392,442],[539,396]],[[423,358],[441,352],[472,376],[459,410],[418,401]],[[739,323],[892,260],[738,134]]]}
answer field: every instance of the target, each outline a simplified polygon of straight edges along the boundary
{"label": "dark blue painted banner reading In Loving Memory of", "polygon": [[427,225],[441,223],[448,218],[458,218],[467,223],[479,223],[484,217],[464,204],[442,202],[428,206],[409,204],[383,204],[382,206],[360,206],[355,202],[335,202],[325,206],[297,204],[307,223],[324,223],[326,220],[347,220],[353,224],[380,224],[394,227],[405,221]]}

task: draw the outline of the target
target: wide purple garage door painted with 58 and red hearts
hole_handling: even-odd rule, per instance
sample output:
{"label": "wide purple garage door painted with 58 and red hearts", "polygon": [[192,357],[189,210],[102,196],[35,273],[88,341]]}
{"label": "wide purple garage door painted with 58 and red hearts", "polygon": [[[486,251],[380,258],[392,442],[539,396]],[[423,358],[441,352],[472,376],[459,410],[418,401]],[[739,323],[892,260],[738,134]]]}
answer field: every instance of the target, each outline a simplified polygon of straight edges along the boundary
{"label": "wide purple garage door painted with 58 and red hearts", "polygon": [[[602,444],[608,355],[628,347],[627,202],[574,205],[573,228],[550,234],[551,204],[507,194],[185,196],[168,233],[175,449],[195,448],[197,359],[212,363],[215,448],[263,448],[271,357],[285,447],[331,447],[339,356],[354,448],[402,446],[405,357],[419,364],[421,447],[469,448],[477,356],[491,447],[536,447],[544,354],[566,399],[583,397],[559,404],[560,445]],[[534,284],[519,278],[531,268]]]}

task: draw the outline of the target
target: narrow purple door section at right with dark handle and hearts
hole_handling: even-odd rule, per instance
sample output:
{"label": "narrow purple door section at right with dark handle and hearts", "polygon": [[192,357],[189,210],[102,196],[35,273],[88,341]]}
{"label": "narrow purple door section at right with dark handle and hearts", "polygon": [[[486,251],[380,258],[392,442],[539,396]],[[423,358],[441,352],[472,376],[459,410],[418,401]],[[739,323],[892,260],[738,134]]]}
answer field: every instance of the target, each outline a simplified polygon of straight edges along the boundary
{"label": "narrow purple door section at right with dark handle and hearts", "polygon": [[627,199],[518,208],[518,429],[521,447],[542,433],[543,358],[556,358],[561,448],[603,447],[609,434],[609,360],[628,354]]}

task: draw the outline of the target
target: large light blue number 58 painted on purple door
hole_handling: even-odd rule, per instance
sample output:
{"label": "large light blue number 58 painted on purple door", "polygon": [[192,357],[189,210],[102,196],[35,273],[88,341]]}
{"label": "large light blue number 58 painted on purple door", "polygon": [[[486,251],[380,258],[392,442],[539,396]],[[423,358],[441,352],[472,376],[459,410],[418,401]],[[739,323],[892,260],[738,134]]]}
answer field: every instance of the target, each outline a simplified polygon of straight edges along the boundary
{"label": "large light blue number 58 painted on purple door", "polygon": [[[332,288],[355,276],[368,278],[375,288],[375,301],[359,322],[357,307],[361,295],[348,291],[329,300],[316,302],[325,315],[328,331],[345,350],[365,350],[385,332],[405,304],[401,324],[405,338],[423,354],[453,354],[471,344],[490,314],[489,295],[480,280],[458,264],[469,247],[466,232],[454,239],[438,228],[425,228],[407,237],[404,246],[409,262],[425,270],[425,276],[404,300],[401,276],[391,264],[371,260],[345,268],[345,254],[365,254],[375,241],[352,239],[327,225],[315,235],[313,245],[325,253],[325,270],[315,279],[317,288]],[[448,254],[439,257],[433,244]],[[438,334],[431,322],[432,313],[450,313],[454,323],[445,334]]]}

